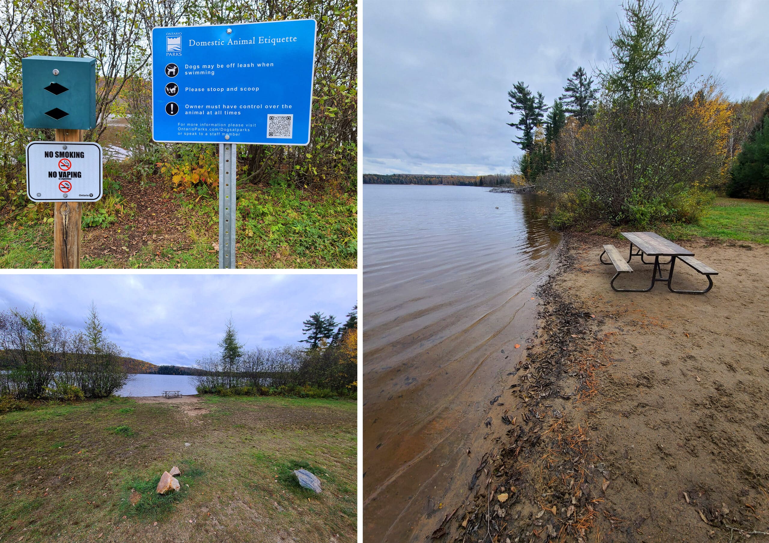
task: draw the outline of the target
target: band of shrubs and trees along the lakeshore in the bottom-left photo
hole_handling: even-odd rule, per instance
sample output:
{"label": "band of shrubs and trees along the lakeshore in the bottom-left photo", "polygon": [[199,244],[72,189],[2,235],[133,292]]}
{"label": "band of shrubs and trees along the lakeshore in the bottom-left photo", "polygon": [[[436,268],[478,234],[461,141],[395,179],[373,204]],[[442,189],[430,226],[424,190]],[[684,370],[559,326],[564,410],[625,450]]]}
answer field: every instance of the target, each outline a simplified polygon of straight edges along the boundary
{"label": "band of shrubs and trees along the lakeshore in the bottom-left photo", "polygon": [[92,304],[82,330],[49,324],[35,307],[0,312],[0,412],[23,400],[75,401],[112,396],[132,373],[194,376],[200,393],[355,397],[358,312],[340,324],[314,313],[305,325],[307,346],[244,349],[227,323],[220,351],[195,367],[155,366],[125,356],[112,342]]}

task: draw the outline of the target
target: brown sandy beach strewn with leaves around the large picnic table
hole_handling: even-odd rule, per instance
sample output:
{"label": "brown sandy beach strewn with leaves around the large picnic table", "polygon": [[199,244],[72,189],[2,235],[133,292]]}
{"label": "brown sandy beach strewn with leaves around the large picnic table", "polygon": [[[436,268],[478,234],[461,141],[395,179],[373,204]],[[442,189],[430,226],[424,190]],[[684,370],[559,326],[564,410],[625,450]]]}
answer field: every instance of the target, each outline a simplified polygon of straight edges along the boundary
{"label": "brown sandy beach strewn with leaves around the large picnic table", "polygon": [[[538,293],[534,346],[491,412],[488,449],[472,454],[468,498],[446,504],[434,536],[725,543],[769,532],[769,247],[684,243],[720,272],[710,293],[685,296],[662,283],[615,293],[603,243],[627,250],[564,240]],[[623,286],[647,283],[636,261]],[[677,288],[702,287],[676,276]]]}

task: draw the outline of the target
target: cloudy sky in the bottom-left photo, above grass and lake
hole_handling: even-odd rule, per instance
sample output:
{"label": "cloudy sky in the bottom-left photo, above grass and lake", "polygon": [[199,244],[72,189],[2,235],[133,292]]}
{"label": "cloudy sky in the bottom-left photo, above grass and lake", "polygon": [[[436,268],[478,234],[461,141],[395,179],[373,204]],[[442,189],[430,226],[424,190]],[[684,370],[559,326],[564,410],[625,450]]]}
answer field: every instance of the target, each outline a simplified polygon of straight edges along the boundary
{"label": "cloudy sky in the bottom-left photo, above grass and lake", "polygon": [[128,356],[192,366],[218,349],[230,314],[246,348],[295,343],[315,311],[344,322],[357,281],[350,274],[0,276],[0,310],[35,305],[49,323],[82,329],[91,300]]}

